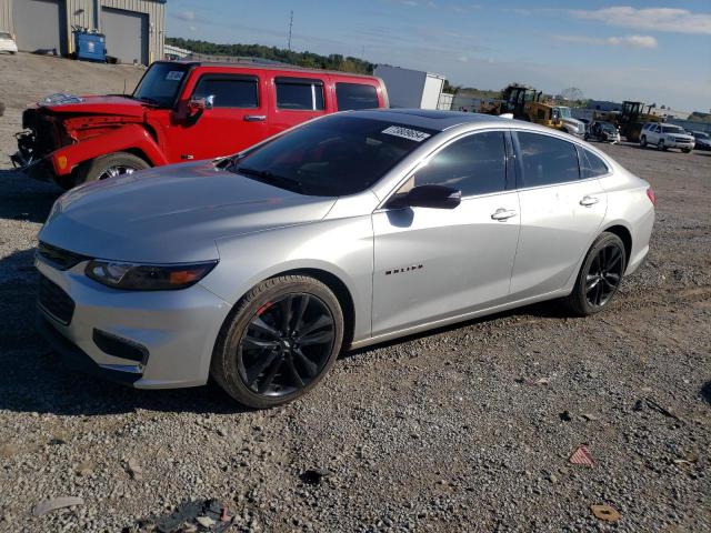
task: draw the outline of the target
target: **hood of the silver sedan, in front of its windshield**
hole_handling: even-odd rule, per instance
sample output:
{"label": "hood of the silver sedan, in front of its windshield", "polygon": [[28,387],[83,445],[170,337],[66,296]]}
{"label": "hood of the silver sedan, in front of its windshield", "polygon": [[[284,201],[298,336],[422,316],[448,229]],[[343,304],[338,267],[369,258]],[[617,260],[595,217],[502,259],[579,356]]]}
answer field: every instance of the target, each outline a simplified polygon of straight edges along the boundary
{"label": "hood of the silver sedan, in front of its windshield", "polygon": [[206,261],[219,259],[217,239],[318,221],[334,202],[218,170],[211,162],[188,163],[66,193],[39,239],[100,259]]}

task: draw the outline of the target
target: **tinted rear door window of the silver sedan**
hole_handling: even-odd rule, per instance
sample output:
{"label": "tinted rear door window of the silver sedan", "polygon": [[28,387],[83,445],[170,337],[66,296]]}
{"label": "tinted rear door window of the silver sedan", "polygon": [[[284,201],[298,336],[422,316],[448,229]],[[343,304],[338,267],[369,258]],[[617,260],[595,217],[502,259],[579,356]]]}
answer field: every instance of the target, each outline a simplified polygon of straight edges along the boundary
{"label": "tinted rear door window of the silver sedan", "polygon": [[541,133],[517,132],[523,187],[554,185],[580,179],[578,150],[571,142]]}

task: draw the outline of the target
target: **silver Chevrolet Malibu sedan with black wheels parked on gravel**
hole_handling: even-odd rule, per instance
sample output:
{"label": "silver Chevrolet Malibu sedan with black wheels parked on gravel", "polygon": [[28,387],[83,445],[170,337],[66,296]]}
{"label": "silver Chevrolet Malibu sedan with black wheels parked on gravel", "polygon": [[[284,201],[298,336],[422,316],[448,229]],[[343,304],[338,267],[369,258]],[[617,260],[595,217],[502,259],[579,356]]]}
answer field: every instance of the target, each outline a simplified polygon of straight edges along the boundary
{"label": "silver Chevrolet Malibu sedan with black wheels parked on gravel", "polygon": [[104,378],[212,376],[269,408],[342,350],[542,300],[601,311],[648,253],[653,204],[608,155],[534,124],[331,114],[66,193],[39,235],[38,323]]}

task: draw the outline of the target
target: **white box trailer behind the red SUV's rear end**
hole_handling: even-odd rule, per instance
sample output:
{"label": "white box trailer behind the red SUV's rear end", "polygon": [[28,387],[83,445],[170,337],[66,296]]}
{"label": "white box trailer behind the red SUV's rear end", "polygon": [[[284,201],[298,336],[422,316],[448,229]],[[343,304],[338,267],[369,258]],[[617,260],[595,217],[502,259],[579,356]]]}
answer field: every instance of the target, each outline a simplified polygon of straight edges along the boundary
{"label": "white box trailer behind the red SUV's rear end", "polygon": [[385,83],[391,108],[438,109],[443,76],[389,64],[379,64],[373,74]]}

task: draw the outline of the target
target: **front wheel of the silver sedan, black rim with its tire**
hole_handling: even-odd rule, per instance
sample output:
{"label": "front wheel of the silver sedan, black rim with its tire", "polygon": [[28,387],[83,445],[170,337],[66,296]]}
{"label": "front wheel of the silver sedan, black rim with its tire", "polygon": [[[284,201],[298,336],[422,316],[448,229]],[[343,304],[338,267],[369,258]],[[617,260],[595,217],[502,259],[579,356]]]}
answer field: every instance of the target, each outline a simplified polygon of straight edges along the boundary
{"label": "front wheel of the silver sedan, black rim with its tire", "polygon": [[[304,298],[307,306],[299,309]],[[316,328],[319,321],[323,325]],[[307,344],[317,335],[327,340]],[[273,408],[313,389],[336,362],[342,341],[343,312],[327,285],[306,275],[271,278],[234,305],[216,342],[210,375],[239,403]]]}

